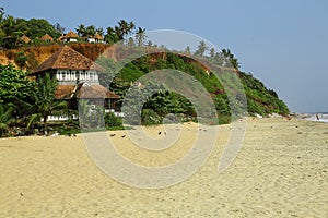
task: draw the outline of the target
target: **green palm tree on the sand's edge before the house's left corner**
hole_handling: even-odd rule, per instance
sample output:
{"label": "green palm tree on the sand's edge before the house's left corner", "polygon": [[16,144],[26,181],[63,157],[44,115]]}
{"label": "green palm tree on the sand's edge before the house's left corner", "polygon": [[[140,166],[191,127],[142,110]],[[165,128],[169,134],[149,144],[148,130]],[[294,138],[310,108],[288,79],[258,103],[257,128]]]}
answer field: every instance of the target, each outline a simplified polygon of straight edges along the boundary
{"label": "green palm tree on the sand's edge before the house's left corner", "polygon": [[31,117],[31,123],[39,118],[43,119],[44,134],[48,133],[48,116],[59,114],[67,110],[67,102],[56,99],[56,78],[51,78],[49,73],[37,83],[37,90],[34,94],[34,108],[36,113]]}

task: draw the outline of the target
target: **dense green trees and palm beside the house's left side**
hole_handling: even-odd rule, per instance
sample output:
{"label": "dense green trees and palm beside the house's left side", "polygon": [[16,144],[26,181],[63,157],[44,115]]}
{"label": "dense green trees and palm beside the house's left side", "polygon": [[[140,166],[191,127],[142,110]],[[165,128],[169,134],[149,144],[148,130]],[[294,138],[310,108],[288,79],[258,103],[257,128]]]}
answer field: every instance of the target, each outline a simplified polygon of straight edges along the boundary
{"label": "dense green trees and palm beside the house's left side", "polygon": [[0,65],[0,136],[7,135],[10,128],[12,134],[38,129],[40,119],[46,133],[47,117],[62,113],[67,108],[66,102],[55,100],[56,85],[49,75],[36,83],[13,65]]}

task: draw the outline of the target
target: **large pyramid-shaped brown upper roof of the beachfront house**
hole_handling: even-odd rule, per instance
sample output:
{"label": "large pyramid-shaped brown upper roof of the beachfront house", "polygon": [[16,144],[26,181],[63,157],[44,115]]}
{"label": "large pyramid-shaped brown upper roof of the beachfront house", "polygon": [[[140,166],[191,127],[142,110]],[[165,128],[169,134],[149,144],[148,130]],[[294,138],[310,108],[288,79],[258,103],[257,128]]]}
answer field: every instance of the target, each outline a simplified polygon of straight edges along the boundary
{"label": "large pyramid-shaped brown upper roof of the beachfront house", "polygon": [[61,47],[50,58],[36,68],[32,74],[37,74],[50,70],[96,70],[105,71],[85,56],[79,53],[68,46]]}

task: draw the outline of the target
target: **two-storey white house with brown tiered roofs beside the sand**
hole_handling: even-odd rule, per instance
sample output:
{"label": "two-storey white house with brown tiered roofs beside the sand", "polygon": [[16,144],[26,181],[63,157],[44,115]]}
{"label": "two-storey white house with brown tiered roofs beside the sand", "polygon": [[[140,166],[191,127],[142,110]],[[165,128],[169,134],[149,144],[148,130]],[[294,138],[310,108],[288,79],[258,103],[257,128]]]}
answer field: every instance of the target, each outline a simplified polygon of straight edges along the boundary
{"label": "two-storey white house with brown tiered roofs beside the sand", "polygon": [[86,99],[92,105],[103,106],[106,111],[115,111],[118,95],[99,84],[98,74],[104,69],[91,59],[68,46],[61,47],[50,58],[36,68],[31,75],[36,80],[50,73],[56,77],[58,86],[57,99],[63,99],[69,108],[78,109],[78,99]]}

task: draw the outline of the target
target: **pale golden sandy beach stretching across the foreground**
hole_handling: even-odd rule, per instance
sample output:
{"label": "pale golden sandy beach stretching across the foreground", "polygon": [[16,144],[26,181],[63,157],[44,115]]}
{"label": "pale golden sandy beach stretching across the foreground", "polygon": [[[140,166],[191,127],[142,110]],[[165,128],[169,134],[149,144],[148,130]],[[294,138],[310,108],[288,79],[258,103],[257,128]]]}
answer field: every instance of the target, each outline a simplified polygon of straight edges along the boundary
{"label": "pale golden sandy beach stretching across the foreground", "polygon": [[[197,125],[176,146],[142,152],[124,131],[117,149],[144,166],[181,158]],[[328,124],[247,119],[230,168],[218,164],[231,125],[221,125],[211,156],[188,180],[160,190],[121,184],[97,168],[82,136],[0,140],[0,217],[328,217]],[[150,133],[160,126],[148,128]],[[190,142],[189,142],[190,141]]]}

